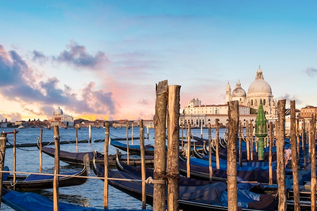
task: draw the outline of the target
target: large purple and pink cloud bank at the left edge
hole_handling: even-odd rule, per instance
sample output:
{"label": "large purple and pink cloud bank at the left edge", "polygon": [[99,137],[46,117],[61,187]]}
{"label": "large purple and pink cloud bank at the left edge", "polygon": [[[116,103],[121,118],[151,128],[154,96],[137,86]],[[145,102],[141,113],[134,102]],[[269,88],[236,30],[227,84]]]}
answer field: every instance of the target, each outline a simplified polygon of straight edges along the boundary
{"label": "large purple and pink cloud bank at the left edge", "polygon": [[53,106],[58,105],[77,114],[116,114],[112,93],[96,90],[95,82],[89,82],[79,93],[67,85],[60,88],[57,77],[35,77],[35,70],[17,52],[7,52],[3,46],[0,46],[0,70],[0,94],[18,102],[24,112],[51,116]]}

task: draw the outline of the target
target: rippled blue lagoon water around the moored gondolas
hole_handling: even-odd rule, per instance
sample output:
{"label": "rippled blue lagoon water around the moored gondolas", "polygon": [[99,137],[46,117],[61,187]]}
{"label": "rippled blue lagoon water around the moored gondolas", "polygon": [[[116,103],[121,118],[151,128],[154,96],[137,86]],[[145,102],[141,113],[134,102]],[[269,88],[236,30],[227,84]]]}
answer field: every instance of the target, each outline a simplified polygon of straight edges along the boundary
{"label": "rippled blue lagoon water around the moored gondolas", "polygon": [[[11,128],[2,128],[1,131],[12,132]],[[16,134],[16,144],[25,144],[25,143],[36,143],[37,138],[40,135],[39,128],[26,128],[20,129]],[[147,138],[147,131],[145,131],[145,144],[154,145],[154,129],[149,129],[149,139]],[[201,130],[194,129],[191,130],[193,136],[200,137]],[[223,137],[224,130],[220,130],[219,134]],[[76,140],[76,132],[74,128],[59,129],[60,141],[74,141]],[[129,137],[132,136],[132,130],[128,131]],[[185,131],[183,132],[185,136]],[[78,141],[89,140],[89,129],[82,128],[77,130]],[[180,131],[180,136],[182,132]],[[208,129],[203,129],[204,138],[208,138]],[[54,137],[54,130],[43,129],[43,142],[52,142]],[[104,142],[94,143],[95,140],[102,140],[105,138],[105,129],[96,129],[91,130],[92,143],[80,143],[78,144],[78,152],[88,152],[92,150],[103,152]],[[126,128],[110,128],[110,139],[114,138],[126,138],[127,130]],[[133,137],[140,137],[139,128],[134,128]],[[215,137],[215,130],[213,130],[212,138]],[[8,141],[10,144],[13,144],[13,134],[7,135]],[[125,141],[124,141],[125,142]],[[129,141],[131,144],[131,140]],[[125,142],[126,143],[126,142]],[[8,144],[8,143],[7,143]],[[134,145],[139,145],[139,139],[133,140]],[[54,148],[53,145],[48,147]],[[60,149],[68,152],[76,152],[75,144],[61,144]],[[122,152],[125,153],[125,152]],[[115,148],[109,145],[109,154],[115,154]],[[52,174],[54,171],[54,158],[43,154],[42,156],[42,172]],[[10,170],[13,170],[13,148],[6,149],[5,155],[5,165],[9,166]],[[74,172],[81,169],[81,166],[67,164],[65,162],[60,162],[60,173]],[[29,173],[38,173],[39,171],[39,150],[37,147],[23,147],[16,149],[16,171],[17,172],[29,172]],[[94,177],[93,171],[91,171],[90,176]],[[46,189],[41,191],[36,191],[36,193],[44,195],[48,198],[53,198],[53,189]],[[59,188],[59,201],[73,203],[82,206],[89,206],[95,208],[103,208],[103,181],[100,179],[89,179],[86,184],[80,186],[71,186],[71,187],[61,187]],[[109,186],[108,189],[108,208],[131,208],[131,209],[141,209],[142,202],[134,199],[133,197]],[[150,205],[147,205],[146,208],[151,208]],[[2,203],[2,210],[13,210],[11,207]]]}

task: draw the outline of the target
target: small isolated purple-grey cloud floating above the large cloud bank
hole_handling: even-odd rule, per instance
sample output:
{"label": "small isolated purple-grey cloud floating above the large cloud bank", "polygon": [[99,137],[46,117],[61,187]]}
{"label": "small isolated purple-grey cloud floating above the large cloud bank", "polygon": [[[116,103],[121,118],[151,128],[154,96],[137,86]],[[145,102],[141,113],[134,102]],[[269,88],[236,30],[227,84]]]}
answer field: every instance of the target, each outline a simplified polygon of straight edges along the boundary
{"label": "small isolated purple-grey cloud floating above the large cloud bank", "polygon": [[110,62],[104,52],[98,51],[93,56],[87,53],[85,46],[80,46],[73,40],[66,46],[66,49],[59,56],[53,56],[53,60],[77,68],[89,68],[93,70],[101,69]]}

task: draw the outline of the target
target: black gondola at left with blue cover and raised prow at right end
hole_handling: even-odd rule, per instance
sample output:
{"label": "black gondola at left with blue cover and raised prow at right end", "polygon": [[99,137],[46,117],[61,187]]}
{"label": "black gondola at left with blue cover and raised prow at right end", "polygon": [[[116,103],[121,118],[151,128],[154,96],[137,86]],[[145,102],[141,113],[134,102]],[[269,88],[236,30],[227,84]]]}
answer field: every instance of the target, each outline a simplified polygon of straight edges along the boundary
{"label": "black gondola at left with blue cover and raised prow at right end", "polygon": [[[85,155],[83,159],[84,162],[82,162],[83,168],[81,171],[71,174],[62,174],[63,176],[59,176],[59,187],[82,185],[88,181],[88,178],[81,178],[81,176],[88,176],[88,169],[86,165],[86,163],[89,162],[88,155]],[[7,171],[9,171],[8,167]],[[13,175],[5,175],[3,178],[3,185],[11,189],[15,188],[15,190],[19,191],[33,191],[53,188],[53,181],[53,175],[30,174],[28,176],[16,176],[16,181],[13,183]]]}

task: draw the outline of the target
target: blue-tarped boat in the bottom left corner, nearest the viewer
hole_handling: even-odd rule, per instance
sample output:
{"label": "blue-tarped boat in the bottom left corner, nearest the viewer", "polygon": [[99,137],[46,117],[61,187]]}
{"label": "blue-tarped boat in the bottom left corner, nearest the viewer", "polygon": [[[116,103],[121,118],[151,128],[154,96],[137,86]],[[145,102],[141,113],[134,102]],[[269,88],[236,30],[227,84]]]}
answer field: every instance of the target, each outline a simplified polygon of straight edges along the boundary
{"label": "blue-tarped boat in the bottom left corner, nearest the viewer", "polygon": [[[19,192],[7,187],[2,188],[2,202],[14,210],[38,211],[54,210],[54,202],[45,196],[33,192]],[[150,211],[152,209],[99,209],[96,207],[85,207],[70,203],[59,202],[59,211]]]}

